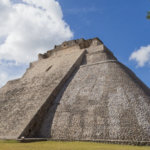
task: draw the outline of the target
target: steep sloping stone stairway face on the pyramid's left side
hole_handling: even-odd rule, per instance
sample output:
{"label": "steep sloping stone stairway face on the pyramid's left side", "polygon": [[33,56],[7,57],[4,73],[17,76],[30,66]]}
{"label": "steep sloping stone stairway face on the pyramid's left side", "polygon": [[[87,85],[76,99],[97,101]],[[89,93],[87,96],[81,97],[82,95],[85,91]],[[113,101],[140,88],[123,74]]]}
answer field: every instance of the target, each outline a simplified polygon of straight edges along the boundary
{"label": "steep sloping stone stairway face on the pyramid's left side", "polygon": [[21,79],[0,89],[0,138],[34,135],[47,106],[82,61],[83,50],[67,51],[32,63]]}

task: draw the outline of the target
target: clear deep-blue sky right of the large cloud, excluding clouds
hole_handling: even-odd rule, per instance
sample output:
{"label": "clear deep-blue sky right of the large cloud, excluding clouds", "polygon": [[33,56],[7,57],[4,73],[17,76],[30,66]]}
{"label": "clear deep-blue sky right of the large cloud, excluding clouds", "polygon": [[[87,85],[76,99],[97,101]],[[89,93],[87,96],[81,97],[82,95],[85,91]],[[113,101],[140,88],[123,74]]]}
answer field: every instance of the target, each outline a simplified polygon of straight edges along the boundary
{"label": "clear deep-blue sky right of the large cloud, excluding clouds", "polygon": [[137,67],[134,60],[129,61],[133,51],[150,45],[150,21],[146,19],[149,0],[59,0],[59,3],[75,39],[99,37],[120,62],[150,87],[148,63]]}

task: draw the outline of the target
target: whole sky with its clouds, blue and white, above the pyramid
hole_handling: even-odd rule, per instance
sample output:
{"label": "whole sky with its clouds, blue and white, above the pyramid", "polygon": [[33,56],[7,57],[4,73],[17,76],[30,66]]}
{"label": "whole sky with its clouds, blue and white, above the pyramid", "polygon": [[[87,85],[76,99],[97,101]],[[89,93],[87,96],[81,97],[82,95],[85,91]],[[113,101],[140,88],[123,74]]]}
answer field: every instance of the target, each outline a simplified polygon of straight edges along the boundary
{"label": "whole sky with its clouds, blue and white, above the pyramid", "polygon": [[150,87],[149,0],[2,0],[0,8],[0,86],[21,77],[38,53],[98,37]]}

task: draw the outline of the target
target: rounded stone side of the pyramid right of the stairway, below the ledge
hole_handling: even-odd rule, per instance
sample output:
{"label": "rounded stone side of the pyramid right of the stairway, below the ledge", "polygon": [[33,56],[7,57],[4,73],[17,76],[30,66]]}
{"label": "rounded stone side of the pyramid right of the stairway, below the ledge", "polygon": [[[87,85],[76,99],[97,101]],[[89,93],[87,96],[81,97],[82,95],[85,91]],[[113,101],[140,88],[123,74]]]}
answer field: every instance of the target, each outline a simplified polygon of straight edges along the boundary
{"label": "rounded stone side of the pyramid right of the stairway, below the ledge", "polygon": [[81,66],[49,109],[39,137],[66,140],[150,140],[150,91],[125,66]]}

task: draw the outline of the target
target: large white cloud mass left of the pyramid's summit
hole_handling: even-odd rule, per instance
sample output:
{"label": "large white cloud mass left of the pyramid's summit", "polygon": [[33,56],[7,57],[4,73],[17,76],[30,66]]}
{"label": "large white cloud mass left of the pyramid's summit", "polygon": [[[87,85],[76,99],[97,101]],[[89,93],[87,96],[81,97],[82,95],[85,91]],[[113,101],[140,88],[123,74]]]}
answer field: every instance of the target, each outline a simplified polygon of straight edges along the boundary
{"label": "large white cloud mass left of the pyramid's summit", "polygon": [[18,64],[24,67],[37,60],[39,53],[72,37],[56,0],[22,0],[18,4],[0,0],[0,87],[21,76]]}

